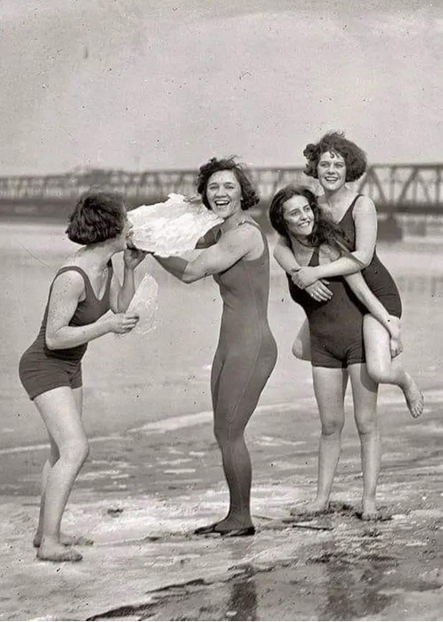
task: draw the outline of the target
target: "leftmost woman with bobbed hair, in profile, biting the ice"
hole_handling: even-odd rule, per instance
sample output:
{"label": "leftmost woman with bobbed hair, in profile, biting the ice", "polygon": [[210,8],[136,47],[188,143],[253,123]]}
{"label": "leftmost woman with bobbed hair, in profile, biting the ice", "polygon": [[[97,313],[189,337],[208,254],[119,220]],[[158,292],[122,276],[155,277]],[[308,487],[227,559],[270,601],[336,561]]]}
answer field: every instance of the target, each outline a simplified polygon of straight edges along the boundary
{"label": "leftmost woman with bobbed hair, in profile, biting the ice", "polygon": [[[81,360],[89,341],[135,327],[137,316],[126,311],[135,292],[135,267],[145,256],[127,249],[131,226],[118,194],[87,192],[71,213],[66,233],[82,248],[55,274],[37,339],[21,356],[19,367],[21,383],[37,406],[50,441],[34,546],[39,559],[57,562],[80,561],[82,555],[70,545],[88,544],[86,538],[61,532],[70,491],[88,454],[81,420]],[[111,258],[121,251],[120,286]]]}

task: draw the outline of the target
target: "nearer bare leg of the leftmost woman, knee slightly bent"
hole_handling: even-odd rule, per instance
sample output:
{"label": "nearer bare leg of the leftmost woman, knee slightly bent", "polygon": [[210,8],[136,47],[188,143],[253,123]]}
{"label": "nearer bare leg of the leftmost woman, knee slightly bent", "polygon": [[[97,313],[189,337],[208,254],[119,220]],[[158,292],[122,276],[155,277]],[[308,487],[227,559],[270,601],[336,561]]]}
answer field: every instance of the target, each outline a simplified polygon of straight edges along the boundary
{"label": "nearer bare leg of the leftmost woman, knee slightly bent", "polygon": [[37,557],[51,561],[79,561],[82,559],[80,553],[65,548],[60,535],[70,491],[88,454],[78,400],[70,388],[59,387],[36,397],[35,403],[59,454],[46,477]]}

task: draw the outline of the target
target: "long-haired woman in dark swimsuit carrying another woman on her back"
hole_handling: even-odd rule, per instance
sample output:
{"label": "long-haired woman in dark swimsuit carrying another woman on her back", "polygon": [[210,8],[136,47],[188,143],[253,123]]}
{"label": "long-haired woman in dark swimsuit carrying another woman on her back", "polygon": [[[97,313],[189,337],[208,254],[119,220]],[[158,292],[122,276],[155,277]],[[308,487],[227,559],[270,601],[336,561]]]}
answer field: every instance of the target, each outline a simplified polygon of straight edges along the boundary
{"label": "long-haired woman in dark swimsuit carrying another woman on her back", "polygon": [[[303,186],[287,186],[277,192],[269,217],[277,233],[287,241],[298,266],[329,266],[339,258],[349,258],[349,241],[340,229],[325,220],[316,196]],[[344,397],[348,376],[352,385],[354,416],[361,444],[364,520],[380,517],[375,493],[380,471],[381,441],[377,421],[378,385],[370,377],[365,363],[363,340],[364,315],[376,318],[398,348],[398,318],[390,313],[369,290],[357,272],[345,277],[331,277],[332,297],[324,302],[300,290],[287,274],[291,298],[308,316],[310,360],[316,402],[320,413],[321,438],[318,457],[317,493],[314,503],[304,511],[327,510],[332,480],[337,468],[344,425]],[[389,343],[388,343],[389,347]]]}

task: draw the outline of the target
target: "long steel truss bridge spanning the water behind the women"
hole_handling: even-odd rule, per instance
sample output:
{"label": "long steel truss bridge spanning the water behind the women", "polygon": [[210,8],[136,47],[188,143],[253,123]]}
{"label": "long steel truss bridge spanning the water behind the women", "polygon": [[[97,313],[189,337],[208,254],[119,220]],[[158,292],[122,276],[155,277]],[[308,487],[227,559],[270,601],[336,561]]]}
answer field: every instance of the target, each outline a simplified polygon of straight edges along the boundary
{"label": "long steel truss bridge spanning the water behind the women", "polygon": [[[251,168],[265,209],[283,185],[316,180],[302,168]],[[86,170],[66,175],[0,177],[0,214],[65,213],[78,196],[91,187],[121,192],[132,206],[163,201],[170,192],[195,194],[196,171],[162,170],[131,173],[121,170]],[[443,216],[443,164],[374,164],[353,184],[375,202],[381,214]]]}

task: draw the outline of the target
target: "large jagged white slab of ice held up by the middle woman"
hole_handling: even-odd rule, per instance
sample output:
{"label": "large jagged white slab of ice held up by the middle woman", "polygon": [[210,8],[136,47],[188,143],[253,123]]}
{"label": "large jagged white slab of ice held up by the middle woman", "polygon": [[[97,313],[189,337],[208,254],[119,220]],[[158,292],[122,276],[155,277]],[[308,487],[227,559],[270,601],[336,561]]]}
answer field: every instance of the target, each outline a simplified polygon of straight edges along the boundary
{"label": "large jagged white slab of ice held up by the middle woman", "polygon": [[200,201],[174,193],[163,203],[142,205],[127,216],[134,225],[132,241],[136,248],[160,257],[193,250],[205,233],[223,222]]}

